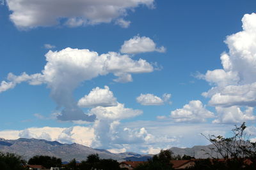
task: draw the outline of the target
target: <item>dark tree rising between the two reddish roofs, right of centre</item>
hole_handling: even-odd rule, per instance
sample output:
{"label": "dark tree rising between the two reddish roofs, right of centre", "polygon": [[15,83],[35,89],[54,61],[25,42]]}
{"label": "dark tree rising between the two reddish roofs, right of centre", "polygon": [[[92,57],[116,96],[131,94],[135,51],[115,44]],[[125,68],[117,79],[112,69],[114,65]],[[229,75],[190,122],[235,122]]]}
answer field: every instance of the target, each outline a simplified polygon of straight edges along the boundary
{"label": "dark tree rising between the two reddish roofs, right of centre", "polygon": [[154,155],[148,162],[140,164],[134,170],[172,170],[170,160],[173,159],[173,152],[171,150],[161,150],[158,155]]}

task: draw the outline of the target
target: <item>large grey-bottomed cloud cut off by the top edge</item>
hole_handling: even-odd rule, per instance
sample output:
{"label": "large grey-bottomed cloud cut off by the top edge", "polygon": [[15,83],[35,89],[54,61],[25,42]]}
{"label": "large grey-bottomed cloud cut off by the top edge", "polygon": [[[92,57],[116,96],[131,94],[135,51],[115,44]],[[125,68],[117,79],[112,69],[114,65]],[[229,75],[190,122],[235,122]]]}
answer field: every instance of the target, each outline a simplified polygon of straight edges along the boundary
{"label": "large grey-bottomed cloud cut off by the top edge", "polygon": [[[140,5],[149,8],[154,6],[154,0],[7,0],[10,19],[20,28],[58,25],[63,19],[65,25],[77,27],[80,25],[95,25],[120,20],[127,11]],[[120,22],[120,21],[119,21]],[[120,24],[124,27],[127,23]]]}

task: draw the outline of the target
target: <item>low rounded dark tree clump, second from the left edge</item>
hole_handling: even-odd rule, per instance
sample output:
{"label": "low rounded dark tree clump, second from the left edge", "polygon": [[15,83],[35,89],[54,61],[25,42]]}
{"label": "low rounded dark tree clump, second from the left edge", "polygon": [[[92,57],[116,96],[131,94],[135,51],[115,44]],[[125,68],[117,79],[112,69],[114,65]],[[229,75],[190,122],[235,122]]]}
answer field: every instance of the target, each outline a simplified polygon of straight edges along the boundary
{"label": "low rounded dark tree clump, second from the left edge", "polygon": [[61,167],[61,159],[45,155],[36,155],[28,160],[29,165],[42,165],[46,168]]}

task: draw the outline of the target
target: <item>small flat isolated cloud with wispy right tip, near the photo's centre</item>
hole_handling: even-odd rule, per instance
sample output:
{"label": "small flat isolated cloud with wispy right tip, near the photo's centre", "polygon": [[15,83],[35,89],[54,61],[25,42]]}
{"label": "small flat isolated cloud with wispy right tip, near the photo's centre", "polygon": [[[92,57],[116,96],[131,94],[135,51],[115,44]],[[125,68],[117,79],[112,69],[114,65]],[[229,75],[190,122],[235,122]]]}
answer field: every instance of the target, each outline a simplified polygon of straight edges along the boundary
{"label": "small flat isolated cloud with wispy right tip, near the photo's centre", "polygon": [[171,94],[163,94],[163,99],[154,96],[154,94],[140,94],[136,101],[142,105],[162,105],[169,101]]}

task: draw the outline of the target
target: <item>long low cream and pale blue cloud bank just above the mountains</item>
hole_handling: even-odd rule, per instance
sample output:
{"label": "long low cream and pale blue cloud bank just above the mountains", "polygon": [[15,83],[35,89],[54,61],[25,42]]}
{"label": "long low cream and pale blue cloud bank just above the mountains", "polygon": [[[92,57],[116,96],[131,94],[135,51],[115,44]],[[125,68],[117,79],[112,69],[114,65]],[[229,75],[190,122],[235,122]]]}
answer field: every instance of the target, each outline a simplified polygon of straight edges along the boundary
{"label": "long low cream and pale blue cloud bank just above the mountains", "polygon": [[209,141],[200,133],[225,136],[225,132],[233,127],[234,125],[230,124],[175,124],[169,120],[126,123],[116,120],[109,122],[96,120],[93,127],[30,127],[19,131],[0,131],[0,138],[29,137],[60,143],[78,143],[93,148],[106,148],[114,152],[154,153],[158,148],[207,145]]}

